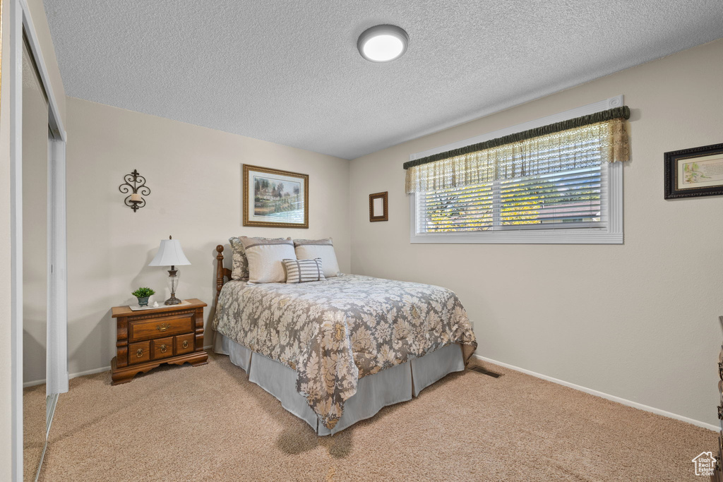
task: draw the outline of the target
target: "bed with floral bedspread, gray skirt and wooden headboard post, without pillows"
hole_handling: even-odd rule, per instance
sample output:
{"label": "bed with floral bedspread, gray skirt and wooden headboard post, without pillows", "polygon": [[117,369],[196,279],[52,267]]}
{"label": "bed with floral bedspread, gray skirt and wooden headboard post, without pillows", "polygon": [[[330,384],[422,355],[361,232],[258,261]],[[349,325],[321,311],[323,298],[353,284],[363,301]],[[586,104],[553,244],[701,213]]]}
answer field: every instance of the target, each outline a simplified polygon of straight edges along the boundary
{"label": "bed with floral bedspread, gray skirt and wooden headboard post, without pillows", "polygon": [[445,288],[360,275],[252,284],[231,280],[216,250],[214,350],[319,435],[411,400],[476,349]]}

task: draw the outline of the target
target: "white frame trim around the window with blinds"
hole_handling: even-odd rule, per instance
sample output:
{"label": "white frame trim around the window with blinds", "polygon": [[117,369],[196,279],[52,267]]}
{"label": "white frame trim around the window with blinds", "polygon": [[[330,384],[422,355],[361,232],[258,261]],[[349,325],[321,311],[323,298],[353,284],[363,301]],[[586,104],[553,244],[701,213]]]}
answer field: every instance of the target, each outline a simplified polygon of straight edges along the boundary
{"label": "white frame trim around the window with blinds", "polygon": [[[445,152],[471,144],[495,139],[515,132],[534,129],[555,122],[586,116],[609,108],[623,106],[623,95],[564,111],[525,124],[500,129],[481,136],[465,139],[409,156],[409,160],[424,158],[437,152]],[[499,229],[488,231],[465,231],[445,233],[417,233],[416,194],[409,194],[410,243],[412,244],[623,244],[623,163],[608,163],[607,199],[604,200],[607,227]]]}

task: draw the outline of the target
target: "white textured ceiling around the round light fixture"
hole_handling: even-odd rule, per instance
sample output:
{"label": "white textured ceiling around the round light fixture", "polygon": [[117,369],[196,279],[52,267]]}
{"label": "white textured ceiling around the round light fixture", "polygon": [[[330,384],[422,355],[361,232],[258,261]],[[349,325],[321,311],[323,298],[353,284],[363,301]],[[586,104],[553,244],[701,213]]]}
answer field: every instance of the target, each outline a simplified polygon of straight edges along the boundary
{"label": "white textured ceiling around the round light fixture", "polygon": [[44,3],[68,95],[347,159],[723,37],[721,0]]}

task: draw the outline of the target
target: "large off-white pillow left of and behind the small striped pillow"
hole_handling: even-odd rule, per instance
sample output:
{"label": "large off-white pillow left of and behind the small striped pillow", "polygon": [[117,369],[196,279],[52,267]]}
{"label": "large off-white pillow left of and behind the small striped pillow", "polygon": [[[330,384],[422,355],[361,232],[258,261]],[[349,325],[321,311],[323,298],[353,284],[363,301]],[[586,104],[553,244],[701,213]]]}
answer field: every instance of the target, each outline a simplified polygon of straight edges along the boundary
{"label": "large off-white pillow left of and behind the small striped pillow", "polygon": [[241,236],[249,263],[249,283],[283,283],[283,259],[296,259],[291,238],[268,239]]}

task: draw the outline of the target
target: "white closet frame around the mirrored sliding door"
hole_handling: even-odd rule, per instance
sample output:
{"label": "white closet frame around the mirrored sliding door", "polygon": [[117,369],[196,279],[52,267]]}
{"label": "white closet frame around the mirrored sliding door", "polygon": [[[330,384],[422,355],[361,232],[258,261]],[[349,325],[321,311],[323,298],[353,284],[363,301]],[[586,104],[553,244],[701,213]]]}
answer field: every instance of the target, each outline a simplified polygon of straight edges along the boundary
{"label": "white closet frame around the mirrored sliding door", "polygon": [[[59,382],[48,383],[54,393],[67,392],[67,256],[65,225],[65,150],[67,134],[60,116],[56,94],[38,35],[30,17],[26,0],[9,0],[9,73],[10,89],[10,232],[11,232],[11,410],[12,410],[12,481],[22,482],[22,35],[25,32],[30,53],[40,73],[40,81],[48,96],[48,126],[53,140],[48,142],[48,165],[52,166],[51,189],[48,191],[48,215],[51,216],[51,245],[49,263],[53,264],[49,278],[54,288],[48,301],[48,371],[46,377],[59,376]],[[49,269],[50,270],[50,269]],[[52,308],[51,308],[52,307]],[[51,312],[52,309],[52,312]],[[51,327],[51,323],[53,327]],[[50,356],[53,359],[50,359]],[[52,386],[51,386],[52,385]]]}

